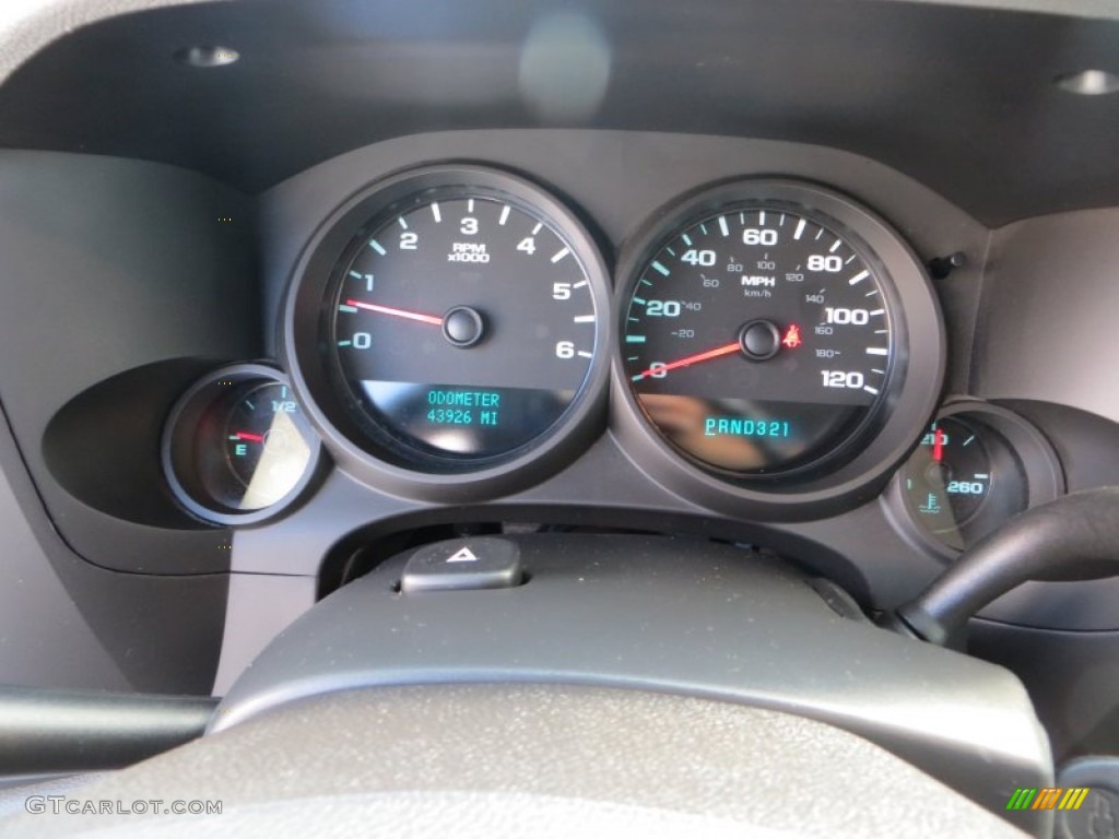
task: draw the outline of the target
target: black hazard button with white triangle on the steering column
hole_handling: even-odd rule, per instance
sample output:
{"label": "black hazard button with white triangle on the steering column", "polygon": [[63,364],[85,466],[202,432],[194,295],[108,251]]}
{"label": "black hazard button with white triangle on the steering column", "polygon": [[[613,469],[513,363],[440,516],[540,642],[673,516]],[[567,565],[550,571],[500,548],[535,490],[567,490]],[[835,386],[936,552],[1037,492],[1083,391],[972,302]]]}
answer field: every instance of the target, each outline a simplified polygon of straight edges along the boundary
{"label": "black hazard button with white triangle on the steering column", "polygon": [[520,548],[515,541],[482,536],[439,541],[420,548],[404,566],[401,591],[510,588],[520,585]]}

